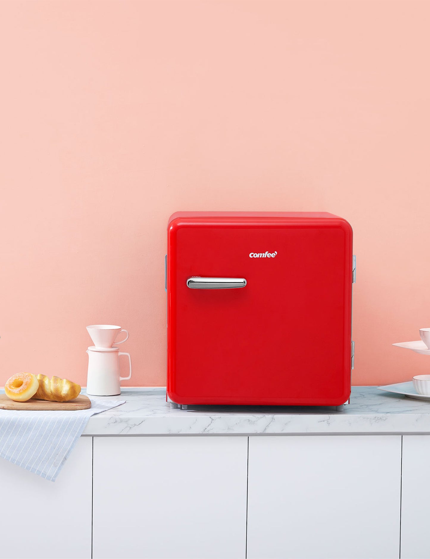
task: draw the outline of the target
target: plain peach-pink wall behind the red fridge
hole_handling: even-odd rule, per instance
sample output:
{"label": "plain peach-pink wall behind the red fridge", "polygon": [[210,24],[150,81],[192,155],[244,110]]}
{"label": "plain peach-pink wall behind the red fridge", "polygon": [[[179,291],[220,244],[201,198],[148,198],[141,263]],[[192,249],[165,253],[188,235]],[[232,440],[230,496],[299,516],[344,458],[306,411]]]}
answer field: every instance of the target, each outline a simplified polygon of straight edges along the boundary
{"label": "plain peach-pink wall behind the red fridge", "polygon": [[430,360],[430,3],[3,2],[0,384],[86,382],[87,324],[165,382],[177,210],[322,210],[355,233],[355,384]]}

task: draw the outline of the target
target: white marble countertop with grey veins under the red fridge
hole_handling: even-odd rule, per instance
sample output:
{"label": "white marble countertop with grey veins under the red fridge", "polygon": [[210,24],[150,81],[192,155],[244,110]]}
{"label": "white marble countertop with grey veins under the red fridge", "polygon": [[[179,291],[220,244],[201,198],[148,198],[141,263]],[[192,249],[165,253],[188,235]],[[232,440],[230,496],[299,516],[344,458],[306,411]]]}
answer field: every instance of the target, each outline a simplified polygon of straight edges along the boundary
{"label": "white marble countertop with grey veins under the red fridge", "polygon": [[93,415],[84,435],[430,434],[430,401],[353,386],[334,408],[195,406],[171,409],[163,388],[123,389],[126,403]]}

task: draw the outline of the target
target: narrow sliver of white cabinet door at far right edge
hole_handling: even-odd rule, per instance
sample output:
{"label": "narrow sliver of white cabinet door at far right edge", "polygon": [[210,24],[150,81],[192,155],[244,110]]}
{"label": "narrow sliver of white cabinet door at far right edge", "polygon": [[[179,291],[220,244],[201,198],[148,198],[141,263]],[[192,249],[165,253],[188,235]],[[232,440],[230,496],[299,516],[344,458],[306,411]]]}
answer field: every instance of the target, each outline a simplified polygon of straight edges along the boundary
{"label": "narrow sliver of white cabinet door at far right edge", "polygon": [[401,559],[430,557],[430,436],[403,435],[401,461]]}

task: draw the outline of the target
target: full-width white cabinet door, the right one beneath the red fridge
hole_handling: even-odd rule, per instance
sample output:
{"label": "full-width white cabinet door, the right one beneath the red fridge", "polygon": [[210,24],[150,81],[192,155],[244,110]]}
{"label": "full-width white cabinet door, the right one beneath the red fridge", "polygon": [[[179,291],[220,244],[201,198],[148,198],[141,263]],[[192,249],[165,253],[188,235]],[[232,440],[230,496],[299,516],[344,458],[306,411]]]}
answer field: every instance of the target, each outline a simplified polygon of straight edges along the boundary
{"label": "full-width white cabinet door, the right one beneath the red fridge", "polygon": [[249,558],[399,557],[400,435],[249,437]]}

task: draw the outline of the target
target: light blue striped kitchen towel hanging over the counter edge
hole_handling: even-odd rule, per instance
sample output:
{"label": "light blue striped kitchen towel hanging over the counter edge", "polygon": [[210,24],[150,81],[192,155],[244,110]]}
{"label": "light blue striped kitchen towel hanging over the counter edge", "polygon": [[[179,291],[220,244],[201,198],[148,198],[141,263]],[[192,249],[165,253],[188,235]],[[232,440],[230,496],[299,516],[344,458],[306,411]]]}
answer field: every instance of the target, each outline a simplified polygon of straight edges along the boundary
{"label": "light blue striped kitchen towel hanging over the counter edge", "polygon": [[91,398],[88,410],[0,410],[0,457],[55,481],[88,419],[124,403]]}

